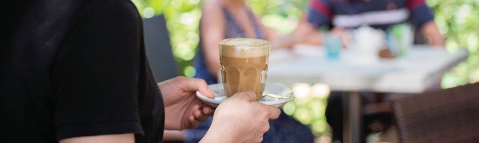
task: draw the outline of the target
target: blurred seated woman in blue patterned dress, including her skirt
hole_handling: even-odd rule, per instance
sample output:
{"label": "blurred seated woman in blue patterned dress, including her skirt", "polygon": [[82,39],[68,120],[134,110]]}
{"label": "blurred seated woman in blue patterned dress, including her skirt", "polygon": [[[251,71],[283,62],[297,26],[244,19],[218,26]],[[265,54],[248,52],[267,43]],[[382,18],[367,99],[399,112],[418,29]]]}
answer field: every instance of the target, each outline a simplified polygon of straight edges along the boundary
{"label": "blurred seated woman in blue patterned dress, including her skirt", "polygon": [[[208,84],[217,83],[220,69],[218,42],[228,38],[257,38],[271,42],[271,48],[290,48],[302,41],[314,28],[302,19],[290,35],[279,36],[265,27],[246,5],[245,0],[210,0],[202,6],[200,20],[200,50],[195,59],[195,78],[205,79]],[[184,132],[183,141],[197,143],[210,126],[212,118],[200,127]],[[309,128],[281,112],[279,119],[270,122],[270,131],[265,133],[265,143],[312,143],[314,136]]]}

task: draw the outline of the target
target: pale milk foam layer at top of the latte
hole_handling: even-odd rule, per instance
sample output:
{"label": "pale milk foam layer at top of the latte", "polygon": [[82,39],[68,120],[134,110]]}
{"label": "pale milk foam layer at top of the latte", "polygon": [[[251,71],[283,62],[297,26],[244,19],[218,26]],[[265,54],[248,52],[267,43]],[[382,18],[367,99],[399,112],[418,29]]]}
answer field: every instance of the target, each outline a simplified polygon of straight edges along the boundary
{"label": "pale milk foam layer at top of the latte", "polygon": [[268,55],[270,42],[253,38],[231,38],[219,41],[222,56],[252,58]]}

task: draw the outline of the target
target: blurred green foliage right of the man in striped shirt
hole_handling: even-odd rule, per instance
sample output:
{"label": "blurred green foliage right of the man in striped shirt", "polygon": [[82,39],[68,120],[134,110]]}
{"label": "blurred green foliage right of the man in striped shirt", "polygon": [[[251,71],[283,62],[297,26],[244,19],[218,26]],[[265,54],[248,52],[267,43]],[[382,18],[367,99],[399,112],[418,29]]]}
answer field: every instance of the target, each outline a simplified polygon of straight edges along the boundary
{"label": "blurred green foliage right of the man in striped shirt", "polygon": [[446,49],[469,51],[468,60],[447,72],[441,86],[479,82],[479,0],[427,0],[427,4],[435,10],[434,20],[447,38]]}

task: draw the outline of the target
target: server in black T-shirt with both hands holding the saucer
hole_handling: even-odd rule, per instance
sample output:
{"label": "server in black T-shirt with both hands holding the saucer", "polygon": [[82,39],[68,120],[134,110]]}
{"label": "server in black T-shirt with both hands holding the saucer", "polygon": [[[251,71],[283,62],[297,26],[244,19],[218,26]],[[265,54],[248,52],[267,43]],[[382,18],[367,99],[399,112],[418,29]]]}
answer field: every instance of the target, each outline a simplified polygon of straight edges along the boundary
{"label": "server in black T-shirt with both hands holding the saucer", "polygon": [[[204,80],[157,83],[142,20],[130,0],[9,1],[0,49],[1,143],[160,143],[195,128],[202,143],[259,143],[277,107],[239,92],[216,110]],[[164,67],[170,68],[170,67]]]}

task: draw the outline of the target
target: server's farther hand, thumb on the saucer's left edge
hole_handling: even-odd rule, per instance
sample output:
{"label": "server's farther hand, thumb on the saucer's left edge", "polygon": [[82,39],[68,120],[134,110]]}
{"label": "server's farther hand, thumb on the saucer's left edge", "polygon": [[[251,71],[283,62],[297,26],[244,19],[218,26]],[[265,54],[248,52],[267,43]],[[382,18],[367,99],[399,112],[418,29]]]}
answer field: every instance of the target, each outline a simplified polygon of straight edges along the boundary
{"label": "server's farther hand, thumb on the saucer's left edge", "polygon": [[165,130],[184,130],[198,127],[215,110],[195,95],[200,91],[206,97],[215,97],[205,80],[175,77],[158,83],[165,105]]}

